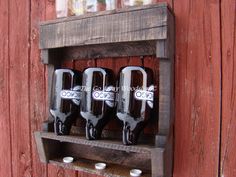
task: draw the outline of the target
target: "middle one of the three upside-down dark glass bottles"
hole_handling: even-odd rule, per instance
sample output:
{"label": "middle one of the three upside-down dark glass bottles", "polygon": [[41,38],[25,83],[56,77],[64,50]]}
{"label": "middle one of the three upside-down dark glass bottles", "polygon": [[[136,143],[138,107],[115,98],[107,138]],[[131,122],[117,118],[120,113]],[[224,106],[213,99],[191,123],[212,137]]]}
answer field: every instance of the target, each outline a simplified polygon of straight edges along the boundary
{"label": "middle one of the three upside-down dark glass bottles", "polygon": [[80,114],[86,119],[86,138],[99,139],[102,129],[114,115],[114,76],[110,70],[88,68],[83,73]]}

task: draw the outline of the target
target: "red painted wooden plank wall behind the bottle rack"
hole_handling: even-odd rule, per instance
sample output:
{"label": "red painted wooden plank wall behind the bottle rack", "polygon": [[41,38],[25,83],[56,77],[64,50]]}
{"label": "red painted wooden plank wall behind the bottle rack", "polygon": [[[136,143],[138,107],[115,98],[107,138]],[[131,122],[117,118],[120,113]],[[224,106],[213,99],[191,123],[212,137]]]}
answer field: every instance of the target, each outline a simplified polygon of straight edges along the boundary
{"label": "red painted wooden plank wall behind the bottle rack", "polygon": [[[168,3],[176,16],[174,177],[235,177],[236,1]],[[96,176],[40,163],[33,139],[48,113],[38,23],[55,18],[54,5],[0,1],[0,177]],[[158,75],[152,57],[65,63],[79,70],[106,66],[116,74],[126,65],[148,66]]]}

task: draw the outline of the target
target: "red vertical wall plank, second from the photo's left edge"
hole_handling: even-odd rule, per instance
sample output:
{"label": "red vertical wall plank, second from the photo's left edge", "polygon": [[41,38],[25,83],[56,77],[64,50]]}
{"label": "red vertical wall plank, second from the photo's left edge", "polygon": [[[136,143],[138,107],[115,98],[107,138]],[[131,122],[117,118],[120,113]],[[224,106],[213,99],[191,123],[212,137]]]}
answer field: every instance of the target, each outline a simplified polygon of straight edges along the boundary
{"label": "red vertical wall plank, second from the photo's left edge", "polygon": [[[30,2],[9,1],[10,122],[13,176],[32,176],[29,117]],[[6,163],[6,162],[5,162]]]}

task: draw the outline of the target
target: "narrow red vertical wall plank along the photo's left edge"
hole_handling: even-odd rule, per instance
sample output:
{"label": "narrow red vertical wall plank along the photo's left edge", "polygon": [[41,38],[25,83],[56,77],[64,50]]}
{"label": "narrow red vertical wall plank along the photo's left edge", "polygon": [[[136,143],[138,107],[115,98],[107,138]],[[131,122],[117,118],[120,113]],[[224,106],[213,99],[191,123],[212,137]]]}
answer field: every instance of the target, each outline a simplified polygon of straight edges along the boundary
{"label": "narrow red vertical wall plank along the photo's left edge", "polygon": [[[8,0],[0,1],[0,142],[4,143],[0,148],[0,174],[2,176],[12,176],[11,164],[11,128],[9,115],[9,2]],[[6,163],[8,162],[8,163]]]}

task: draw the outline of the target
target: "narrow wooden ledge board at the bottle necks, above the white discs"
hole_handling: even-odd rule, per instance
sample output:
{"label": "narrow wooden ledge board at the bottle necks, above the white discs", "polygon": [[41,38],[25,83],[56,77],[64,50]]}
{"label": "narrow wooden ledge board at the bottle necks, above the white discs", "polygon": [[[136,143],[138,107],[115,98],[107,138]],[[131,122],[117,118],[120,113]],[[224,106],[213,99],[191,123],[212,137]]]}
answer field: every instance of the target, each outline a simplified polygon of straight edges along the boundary
{"label": "narrow wooden ledge board at the bottle necks, above the white discs", "polygon": [[153,150],[159,149],[160,151],[164,151],[162,148],[157,148],[154,145],[132,145],[126,146],[123,145],[120,141],[113,140],[87,140],[85,137],[81,137],[78,135],[68,135],[68,136],[57,136],[54,133],[49,132],[36,132],[38,136],[43,139],[51,139],[60,142],[68,142],[75,143],[105,149],[113,149],[118,151],[126,151],[126,152],[134,152],[134,153],[144,153],[150,154]]}

